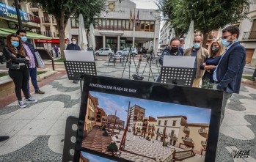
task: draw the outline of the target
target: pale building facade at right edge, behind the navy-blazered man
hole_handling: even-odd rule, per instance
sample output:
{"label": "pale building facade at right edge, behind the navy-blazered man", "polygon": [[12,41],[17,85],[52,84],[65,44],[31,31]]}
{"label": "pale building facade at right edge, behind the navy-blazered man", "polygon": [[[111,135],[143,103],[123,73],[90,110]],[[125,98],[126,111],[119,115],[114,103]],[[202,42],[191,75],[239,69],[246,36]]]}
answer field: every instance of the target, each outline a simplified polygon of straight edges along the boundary
{"label": "pale building facade at right edge, behind the navy-blazered man", "polygon": [[244,19],[237,25],[240,29],[240,36],[238,37],[241,45],[246,48],[246,63],[248,66],[255,67],[256,65],[256,4],[249,7],[248,17],[251,19]]}

